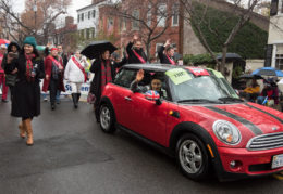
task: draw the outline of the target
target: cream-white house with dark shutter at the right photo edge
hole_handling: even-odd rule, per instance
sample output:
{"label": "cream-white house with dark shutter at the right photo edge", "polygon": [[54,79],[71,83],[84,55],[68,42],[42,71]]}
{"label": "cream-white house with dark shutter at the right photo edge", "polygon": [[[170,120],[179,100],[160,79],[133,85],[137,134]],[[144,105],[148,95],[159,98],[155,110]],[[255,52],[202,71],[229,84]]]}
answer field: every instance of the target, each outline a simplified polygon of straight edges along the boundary
{"label": "cream-white house with dark shutter at the right photo edge", "polygon": [[272,0],[264,66],[283,69],[283,0]]}

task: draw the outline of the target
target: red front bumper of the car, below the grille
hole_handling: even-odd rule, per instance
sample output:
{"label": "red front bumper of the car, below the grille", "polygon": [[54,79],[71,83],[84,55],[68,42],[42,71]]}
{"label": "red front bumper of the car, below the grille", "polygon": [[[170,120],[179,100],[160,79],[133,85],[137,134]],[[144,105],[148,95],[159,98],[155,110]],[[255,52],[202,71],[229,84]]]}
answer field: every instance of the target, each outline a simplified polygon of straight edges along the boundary
{"label": "red front bumper of the car, below the grille", "polygon": [[[246,148],[218,147],[223,170],[229,173],[246,176],[263,176],[280,172],[283,167],[272,169],[272,158],[283,154],[283,148],[268,151],[248,151]],[[231,166],[235,161],[235,166]]]}

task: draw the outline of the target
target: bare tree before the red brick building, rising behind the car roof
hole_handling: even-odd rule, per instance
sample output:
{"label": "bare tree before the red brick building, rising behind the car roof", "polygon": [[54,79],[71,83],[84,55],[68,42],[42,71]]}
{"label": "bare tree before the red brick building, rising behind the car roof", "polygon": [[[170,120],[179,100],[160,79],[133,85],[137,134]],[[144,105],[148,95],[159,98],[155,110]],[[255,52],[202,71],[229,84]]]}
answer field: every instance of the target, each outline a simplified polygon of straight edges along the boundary
{"label": "bare tree before the red brick building, rising behind the car roof", "polygon": [[131,28],[124,30],[125,36],[138,31],[150,57],[150,43],[167,31],[172,15],[176,14],[177,10],[171,9],[173,3],[170,0],[122,0],[114,3],[111,14],[121,18],[122,28],[123,25],[125,29]]}

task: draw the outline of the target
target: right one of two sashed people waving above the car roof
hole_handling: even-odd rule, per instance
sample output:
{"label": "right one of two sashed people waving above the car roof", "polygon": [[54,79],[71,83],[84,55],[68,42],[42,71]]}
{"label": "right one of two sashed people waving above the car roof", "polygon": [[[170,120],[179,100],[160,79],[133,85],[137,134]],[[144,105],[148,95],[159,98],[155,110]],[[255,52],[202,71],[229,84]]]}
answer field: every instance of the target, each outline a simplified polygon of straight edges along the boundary
{"label": "right one of two sashed people waving above the car roof", "polygon": [[174,48],[170,47],[170,39],[167,40],[164,46],[161,46],[158,51],[158,57],[162,64],[176,65],[173,59]]}

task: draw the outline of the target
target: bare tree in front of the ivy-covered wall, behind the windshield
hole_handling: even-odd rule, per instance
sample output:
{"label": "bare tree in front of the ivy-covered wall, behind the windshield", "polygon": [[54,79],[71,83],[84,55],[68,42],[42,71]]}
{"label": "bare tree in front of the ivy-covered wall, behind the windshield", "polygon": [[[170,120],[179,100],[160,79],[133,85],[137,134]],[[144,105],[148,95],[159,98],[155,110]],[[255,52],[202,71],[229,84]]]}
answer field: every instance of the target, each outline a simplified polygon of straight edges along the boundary
{"label": "bare tree in front of the ivy-covered wall, behind the windshield", "polygon": [[[218,61],[216,53],[209,46],[204,31],[201,29],[201,25],[206,24],[212,33],[216,38],[220,36],[219,26],[210,26],[210,18],[207,16],[209,2],[213,0],[201,0],[200,3],[202,4],[202,13],[199,14],[199,12],[196,12],[196,4],[199,3],[199,1],[196,0],[180,0],[182,7],[184,8],[184,18],[190,23],[197,33],[199,34],[200,40],[202,41],[205,48],[210,53],[210,55],[213,57],[218,65],[218,69],[224,74],[224,67],[225,67],[225,61],[226,61],[226,53],[229,46],[234,40],[237,33],[243,28],[243,26],[250,20],[251,14],[254,13],[255,8],[262,2],[262,0],[248,0],[247,3],[244,3],[244,0],[232,0],[231,2],[234,5],[234,14],[238,16],[237,23],[235,26],[230,30],[227,36],[225,37],[225,41],[221,42],[222,46],[222,61]],[[245,7],[245,9],[243,8]],[[229,18],[233,16],[233,13],[230,14],[230,16],[226,16],[226,18],[222,18],[221,25],[225,25],[225,23],[229,21]]]}

